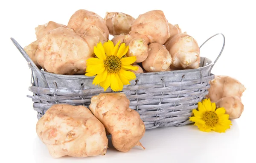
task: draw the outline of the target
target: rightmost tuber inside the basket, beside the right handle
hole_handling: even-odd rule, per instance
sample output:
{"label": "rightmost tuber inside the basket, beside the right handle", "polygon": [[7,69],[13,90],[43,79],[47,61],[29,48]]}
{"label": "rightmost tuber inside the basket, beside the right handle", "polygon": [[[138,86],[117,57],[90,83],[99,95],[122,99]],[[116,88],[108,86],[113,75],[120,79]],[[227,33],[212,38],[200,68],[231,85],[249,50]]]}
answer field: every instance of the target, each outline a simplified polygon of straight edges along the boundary
{"label": "rightmost tuber inside the basket, beside the right handle", "polygon": [[182,68],[198,68],[200,64],[200,49],[197,41],[184,33],[176,34],[169,40],[166,49],[172,56],[172,65]]}

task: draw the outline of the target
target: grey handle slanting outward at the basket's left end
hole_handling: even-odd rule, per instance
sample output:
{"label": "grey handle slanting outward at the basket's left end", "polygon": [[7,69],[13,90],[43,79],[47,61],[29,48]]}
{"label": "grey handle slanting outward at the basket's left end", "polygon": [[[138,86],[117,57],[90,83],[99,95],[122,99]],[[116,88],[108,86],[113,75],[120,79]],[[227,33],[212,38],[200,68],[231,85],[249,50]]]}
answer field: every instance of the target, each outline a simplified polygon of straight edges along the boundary
{"label": "grey handle slanting outward at the basket's left end", "polygon": [[39,68],[35,65],[35,63],[32,61],[32,59],[29,57],[29,55],[26,53],[26,51],[24,51],[24,49],[20,46],[20,44],[18,44],[18,42],[12,37],[11,37],[11,40],[12,40],[13,44],[16,46],[16,48],[20,51],[22,56],[26,59],[28,64],[31,65],[35,69],[35,71],[38,73],[38,75],[40,76],[40,78],[43,81],[44,87],[48,88],[48,84],[47,84],[44,74],[41,72],[41,70],[39,70]]}

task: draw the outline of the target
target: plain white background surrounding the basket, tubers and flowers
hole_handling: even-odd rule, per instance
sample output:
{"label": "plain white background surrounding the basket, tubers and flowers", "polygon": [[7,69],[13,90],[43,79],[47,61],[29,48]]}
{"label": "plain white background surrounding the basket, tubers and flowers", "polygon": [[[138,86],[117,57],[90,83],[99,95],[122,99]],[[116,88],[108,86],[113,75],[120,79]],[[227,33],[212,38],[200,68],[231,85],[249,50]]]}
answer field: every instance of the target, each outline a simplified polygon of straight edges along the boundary
{"label": "plain white background surrounding the basket, tubers and flowers", "polygon": [[[0,3],[0,162],[38,163],[234,163],[253,162],[255,155],[255,47],[256,12],[253,1],[198,0],[8,0]],[[167,20],[179,24],[201,45],[208,37],[223,33],[226,46],[212,73],[228,75],[245,85],[244,112],[226,133],[201,132],[196,126],[148,130],[141,142],[143,151],[117,152],[111,147],[105,156],[72,158],[50,157],[35,132],[36,111],[26,95],[30,70],[12,44],[13,37],[22,47],[35,40],[35,27],[50,20],[67,25],[78,9],[120,11],[137,17],[146,11],[162,10]],[[221,49],[220,36],[201,49],[201,56],[214,60]],[[248,159],[253,159],[248,161]]]}

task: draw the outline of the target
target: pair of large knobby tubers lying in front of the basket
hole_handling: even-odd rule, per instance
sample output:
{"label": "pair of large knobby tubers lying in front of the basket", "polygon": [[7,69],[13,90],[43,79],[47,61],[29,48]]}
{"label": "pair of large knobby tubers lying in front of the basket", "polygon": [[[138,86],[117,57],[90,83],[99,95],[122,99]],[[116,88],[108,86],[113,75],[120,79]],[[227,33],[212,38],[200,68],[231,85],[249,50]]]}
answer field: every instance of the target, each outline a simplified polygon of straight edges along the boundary
{"label": "pair of large knobby tubers lying in front of the basket", "polygon": [[54,104],[38,120],[36,132],[53,158],[105,155],[107,133],[114,148],[128,152],[141,146],[145,125],[140,115],[129,108],[123,93],[102,93],[84,106]]}

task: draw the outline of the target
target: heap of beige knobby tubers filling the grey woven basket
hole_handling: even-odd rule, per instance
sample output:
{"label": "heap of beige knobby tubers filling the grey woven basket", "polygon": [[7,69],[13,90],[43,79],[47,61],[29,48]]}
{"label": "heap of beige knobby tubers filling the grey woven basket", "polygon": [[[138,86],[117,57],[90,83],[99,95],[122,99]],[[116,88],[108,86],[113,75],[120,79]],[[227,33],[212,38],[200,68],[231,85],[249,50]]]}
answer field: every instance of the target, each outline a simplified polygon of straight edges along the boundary
{"label": "heap of beige knobby tubers filling the grey woven basket", "polygon": [[198,68],[200,50],[196,40],[166,20],[163,11],[153,10],[134,17],[122,12],[98,14],[80,9],[67,25],[49,21],[35,28],[36,40],[24,50],[40,69],[49,73],[84,74],[86,60],[95,57],[94,46],[125,43],[125,56],[136,56],[134,73]]}

